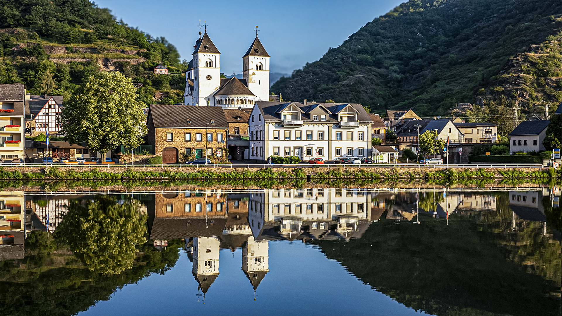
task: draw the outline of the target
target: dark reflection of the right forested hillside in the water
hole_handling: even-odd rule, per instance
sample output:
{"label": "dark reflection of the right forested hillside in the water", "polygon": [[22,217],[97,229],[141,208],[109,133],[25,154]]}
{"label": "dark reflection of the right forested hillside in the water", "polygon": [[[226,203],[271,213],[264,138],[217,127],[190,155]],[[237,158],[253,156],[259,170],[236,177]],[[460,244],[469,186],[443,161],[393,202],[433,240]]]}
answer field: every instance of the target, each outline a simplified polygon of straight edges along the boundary
{"label": "dark reflection of the right forested hillside in the water", "polygon": [[420,225],[383,220],[358,240],[315,243],[361,281],[415,310],[559,315],[560,244],[543,234],[541,223],[517,220],[507,198],[498,196],[498,210],[481,219],[454,214],[448,225],[429,216]]}

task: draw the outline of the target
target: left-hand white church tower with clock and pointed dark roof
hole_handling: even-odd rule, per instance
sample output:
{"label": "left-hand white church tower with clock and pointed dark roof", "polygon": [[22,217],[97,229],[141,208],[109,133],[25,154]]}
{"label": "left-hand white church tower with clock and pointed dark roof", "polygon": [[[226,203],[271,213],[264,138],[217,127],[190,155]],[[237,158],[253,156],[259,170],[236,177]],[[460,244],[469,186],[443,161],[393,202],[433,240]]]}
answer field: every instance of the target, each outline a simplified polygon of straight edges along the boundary
{"label": "left-hand white church tower with clock and pointed dark roof", "polygon": [[[199,32],[201,36],[201,32]],[[220,52],[207,35],[197,40],[193,52],[193,91],[191,98],[185,94],[185,105],[215,105],[213,94],[220,88]],[[186,92],[188,90],[188,78],[186,76]],[[191,102],[189,102],[191,99]]]}

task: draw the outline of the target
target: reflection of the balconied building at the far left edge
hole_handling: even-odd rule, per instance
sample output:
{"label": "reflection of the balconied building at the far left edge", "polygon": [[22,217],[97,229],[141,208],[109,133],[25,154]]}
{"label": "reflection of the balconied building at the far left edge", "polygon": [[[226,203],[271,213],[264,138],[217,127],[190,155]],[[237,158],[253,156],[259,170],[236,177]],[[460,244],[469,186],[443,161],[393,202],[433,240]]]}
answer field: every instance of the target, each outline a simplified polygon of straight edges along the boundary
{"label": "reflection of the balconied building at the far left edge", "polygon": [[24,192],[0,192],[0,260],[24,259]]}

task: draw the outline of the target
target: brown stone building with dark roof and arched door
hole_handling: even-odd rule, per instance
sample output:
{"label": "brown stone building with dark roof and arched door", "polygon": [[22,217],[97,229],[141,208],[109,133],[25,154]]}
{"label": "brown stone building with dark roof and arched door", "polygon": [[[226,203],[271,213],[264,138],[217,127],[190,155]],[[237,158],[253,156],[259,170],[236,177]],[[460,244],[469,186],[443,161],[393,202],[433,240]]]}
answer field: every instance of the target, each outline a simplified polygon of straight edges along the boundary
{"label": "brown stone building with dark roof and arched door", "polygon": [[225,158],[228,123],[221,107],[151,105],[147,119],[147,144],[153,145],[164,164],[196,158]]}

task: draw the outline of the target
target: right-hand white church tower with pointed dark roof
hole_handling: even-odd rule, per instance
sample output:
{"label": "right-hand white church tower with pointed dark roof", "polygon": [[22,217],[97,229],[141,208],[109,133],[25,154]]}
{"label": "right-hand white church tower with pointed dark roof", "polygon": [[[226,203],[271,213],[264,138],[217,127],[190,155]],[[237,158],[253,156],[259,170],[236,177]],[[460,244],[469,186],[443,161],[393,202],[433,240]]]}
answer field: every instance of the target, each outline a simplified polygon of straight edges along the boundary
{"label": "right-hand white church tower with pointed dark roof", "polygon": [[269,101],[269,57],[256,30],[256,39],[242,57],[243,78],[248,82],[248,89],[256,95],[256,101]]}

